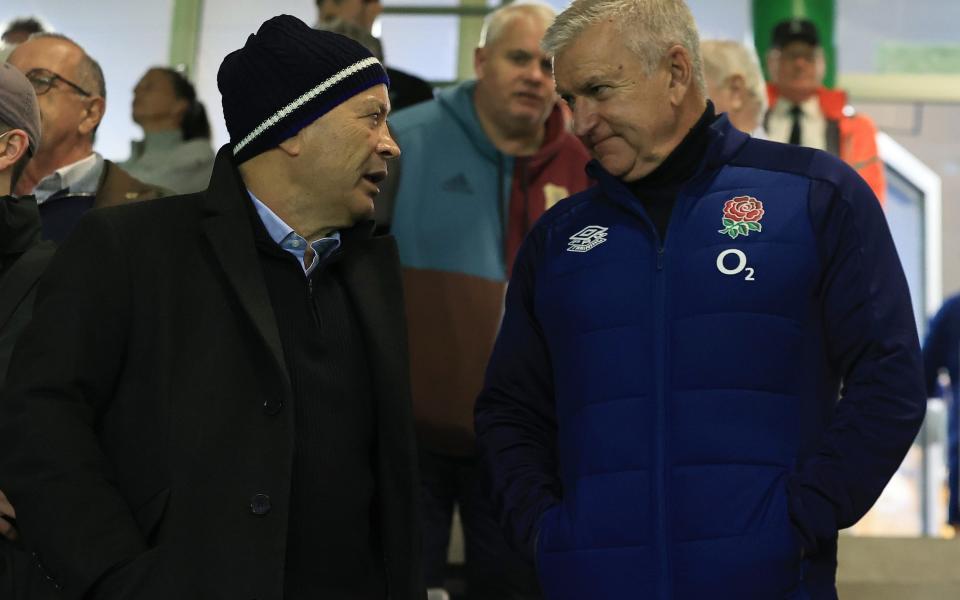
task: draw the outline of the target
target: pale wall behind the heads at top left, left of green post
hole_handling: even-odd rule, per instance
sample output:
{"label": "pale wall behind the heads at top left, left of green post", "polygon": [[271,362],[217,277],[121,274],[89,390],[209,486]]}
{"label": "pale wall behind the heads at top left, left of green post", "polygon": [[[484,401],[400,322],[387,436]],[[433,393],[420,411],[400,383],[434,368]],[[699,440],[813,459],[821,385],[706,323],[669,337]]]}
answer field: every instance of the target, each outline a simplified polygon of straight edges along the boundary
{"label": "pale wall behind the heads at top left, left of green post", "polygon": [[0,23],[36,15],[73,38],[103,68],[107,112],[96,149],[124,159],[130,140],[141,135],[130,119],[133,86],[152,65],[166,64],[170,47],[172,0],[4,0]]}

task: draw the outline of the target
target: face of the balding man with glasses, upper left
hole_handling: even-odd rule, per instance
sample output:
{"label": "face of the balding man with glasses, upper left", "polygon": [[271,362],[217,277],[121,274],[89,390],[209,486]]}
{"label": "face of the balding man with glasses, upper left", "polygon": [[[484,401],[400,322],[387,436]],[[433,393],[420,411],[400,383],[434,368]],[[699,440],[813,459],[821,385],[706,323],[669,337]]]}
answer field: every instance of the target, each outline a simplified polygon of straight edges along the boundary
{"label": "face of the balding man with glasses, upper left", "polygon": [[[58,76],[67,81],[85,84],[79,80],[79,65],[83,51],[68,41],[57,38],[37,38],[17,46],[7,62],[20,69],[36,87],[36,77],[50,79]],[[56,153],[76,144],[78,136],[88,135],[99,122],[91,123],[91,99],[96,90],[85,89],[91,96],[84,96],[61,79],[53,78],[50,88],[37,94],[43,133],[40,138],[40,153]]]}

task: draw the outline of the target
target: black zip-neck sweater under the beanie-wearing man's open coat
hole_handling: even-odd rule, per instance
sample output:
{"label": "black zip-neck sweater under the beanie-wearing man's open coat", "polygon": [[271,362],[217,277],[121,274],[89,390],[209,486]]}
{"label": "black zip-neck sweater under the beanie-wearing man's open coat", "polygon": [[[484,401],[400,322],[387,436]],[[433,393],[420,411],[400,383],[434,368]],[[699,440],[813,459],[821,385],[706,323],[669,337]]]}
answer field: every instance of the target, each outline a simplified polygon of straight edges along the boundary
{"label": "black zip-neck sweater under the beanie-wearing man's open coat", "polygon": [[[253,213],[253,211],[251,211]],[[376,513],[376,414],[357,315],[335,268],[308,277],[253,215],[293,387],[285,600],[386,597]],[[344,241],[344,243],[349,243]]]}

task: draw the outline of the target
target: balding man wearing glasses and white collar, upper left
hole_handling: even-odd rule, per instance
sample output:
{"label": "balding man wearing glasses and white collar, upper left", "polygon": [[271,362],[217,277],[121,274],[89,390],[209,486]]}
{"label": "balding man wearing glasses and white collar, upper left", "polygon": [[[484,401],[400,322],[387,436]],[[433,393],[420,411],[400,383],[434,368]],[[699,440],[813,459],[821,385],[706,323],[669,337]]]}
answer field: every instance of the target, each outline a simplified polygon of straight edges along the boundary
{"label": "balding man wearing glasses and white collar, upper left", "polygon": [[37,197],[45,239],[65,238],[91,207],[164,195],[93,151],[106,86],[100,65],[83,48],[62,35],[39,34],[18,46],[8,62],[33,84],[43,118],[42,150],[14,191]]}

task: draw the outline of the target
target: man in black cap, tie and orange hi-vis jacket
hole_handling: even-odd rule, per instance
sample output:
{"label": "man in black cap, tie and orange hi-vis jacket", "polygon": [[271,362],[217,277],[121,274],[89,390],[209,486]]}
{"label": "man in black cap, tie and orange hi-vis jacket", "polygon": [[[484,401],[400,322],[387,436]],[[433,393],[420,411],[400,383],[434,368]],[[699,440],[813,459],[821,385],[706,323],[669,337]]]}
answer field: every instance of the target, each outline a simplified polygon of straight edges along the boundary
{"label": "man in black cap, tie and orange hi-vis jacket", "polygon": [[826,66],[817,27],[790,19],[773,28],[767,71],[771,140],[826,150],[839,156],[866,180],[883,202],[886,184],[877,155],[877,128],[855,113],[843,90],[823,87]]}

